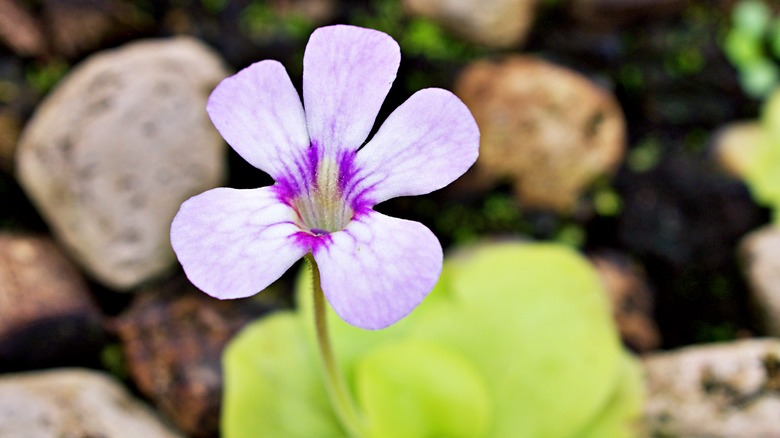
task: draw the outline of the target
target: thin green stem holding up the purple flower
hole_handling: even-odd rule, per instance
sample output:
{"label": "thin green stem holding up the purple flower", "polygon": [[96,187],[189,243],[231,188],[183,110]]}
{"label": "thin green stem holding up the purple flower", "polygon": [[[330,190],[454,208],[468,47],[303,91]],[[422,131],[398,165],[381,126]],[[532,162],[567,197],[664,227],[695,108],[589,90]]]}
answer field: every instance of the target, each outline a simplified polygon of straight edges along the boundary
{"label": "thin green stem holding up the purple flower", "polygon": [[322,292],[322,284],[320,283],[320,270],[311,254],[306,255],[306,261],[311,266],[314,280],[312,282],[314,291],[314,325],[317,330],[317,343],[320,347],[322,364],[325,366],[325,386],[328,389],[328,395],[336,415],[341,420],[344,428],[347,429],[347,433],[351,437],[363,437],[365,433],[363,433],[363,426],[355,408],[355,403],[349,395],[344,376],[339,372],[338,364],[333,356],[333,348],[328,336],[325,294]]}

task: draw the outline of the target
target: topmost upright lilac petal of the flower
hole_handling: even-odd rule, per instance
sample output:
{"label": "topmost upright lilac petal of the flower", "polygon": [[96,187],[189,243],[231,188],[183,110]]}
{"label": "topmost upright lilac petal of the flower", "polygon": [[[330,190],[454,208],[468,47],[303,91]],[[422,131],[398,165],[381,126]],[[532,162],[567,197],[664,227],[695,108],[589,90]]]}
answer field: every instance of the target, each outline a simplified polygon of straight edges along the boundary
{"label": "topmost upright lilac petal of the flower", "polygon": [[389,35],[354,26],[315,30],[303,57],[303,102],[312,141],[356,150],[395,80],[401,51]]}

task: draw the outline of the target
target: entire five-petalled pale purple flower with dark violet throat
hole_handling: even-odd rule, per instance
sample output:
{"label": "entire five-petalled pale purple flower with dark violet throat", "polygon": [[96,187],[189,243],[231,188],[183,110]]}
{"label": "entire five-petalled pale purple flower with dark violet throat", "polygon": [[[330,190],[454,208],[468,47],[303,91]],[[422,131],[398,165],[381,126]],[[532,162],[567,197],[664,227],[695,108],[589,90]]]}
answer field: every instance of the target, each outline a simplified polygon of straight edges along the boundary
{"label": "entire five-petalled pale purple flower with dark violet throat", "polygon": [[422,224],[373,206],[454,181],[476,160],[479,131],[457,97],[429,88],[363,145],[400,57],[382,32],[330,26],[306,46],[304,105],[276,61],[217,86],[212,122],[276,184],[216,188],[182,204],[171,243],[194,285],[221,299],[246,297],[311,252],[325,297],[352,325],[386,327],[425,298],[441,273],[441,245]]}

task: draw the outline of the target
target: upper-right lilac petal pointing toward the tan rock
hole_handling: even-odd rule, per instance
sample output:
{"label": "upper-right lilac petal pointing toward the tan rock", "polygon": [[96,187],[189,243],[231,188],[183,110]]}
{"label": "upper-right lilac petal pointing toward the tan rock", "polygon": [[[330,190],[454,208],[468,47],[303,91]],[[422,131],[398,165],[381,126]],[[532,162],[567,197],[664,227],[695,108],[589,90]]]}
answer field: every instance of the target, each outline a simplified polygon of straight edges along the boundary
{"label": "upper-right lilac petal pointing toward the tan rock", "polygon": [[429,193],[463,175],[478,153],[479,129],[466,105],[447,90],[420,90],[358,151],[347,196],[376,204]]}

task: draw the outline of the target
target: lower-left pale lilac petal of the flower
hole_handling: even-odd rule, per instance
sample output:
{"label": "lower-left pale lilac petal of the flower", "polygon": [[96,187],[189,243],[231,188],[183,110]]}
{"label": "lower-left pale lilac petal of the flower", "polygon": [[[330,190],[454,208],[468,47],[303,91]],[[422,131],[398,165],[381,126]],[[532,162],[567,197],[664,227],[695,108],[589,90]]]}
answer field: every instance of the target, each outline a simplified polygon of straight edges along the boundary
{"label": "lower-left pale lilac petal of the flower", "polygon": [[293,210],[272,187],[217,188],[185,201],[171,244],[187,278],[207,294],[242,298],[276,281],[308,252],[293,237]]}

